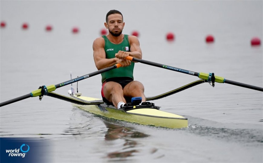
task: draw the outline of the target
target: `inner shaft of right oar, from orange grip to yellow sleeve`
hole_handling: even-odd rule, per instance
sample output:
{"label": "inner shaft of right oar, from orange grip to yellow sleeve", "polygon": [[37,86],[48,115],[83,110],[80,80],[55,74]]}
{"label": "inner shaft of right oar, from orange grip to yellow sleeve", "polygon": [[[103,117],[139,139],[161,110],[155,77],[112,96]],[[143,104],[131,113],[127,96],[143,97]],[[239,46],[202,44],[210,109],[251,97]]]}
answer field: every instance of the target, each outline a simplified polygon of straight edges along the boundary
{"label": "inner shaft of right oar, from orange grip to yellow sleeve", "polygon": [[155,67],[160,67],[160,68],[163,68],[163,69],[168,69],[168,70],[172,70],[172,71],[176,71],[176,72],[181,72],[181,73],[184,73],[184,74],[198,76],[198,72],[193,72],[193,71],[189,71],[189,70],[185,70],[185,69],[179,69],[179,68],[176,68],[176,67],[167,66],[167,65],[163,65],[163,64],[155,63],[155,62],[151,62],[151,61],[146,61],[146,60],[143,60],[143,59],[137,59],[137,58],[133,58],[131,56],[126,57],[126,59],[131,60],[131,61],[135,61],[135,62],[144,63],[144,64],[151,65],[151,66],[155,66]]}

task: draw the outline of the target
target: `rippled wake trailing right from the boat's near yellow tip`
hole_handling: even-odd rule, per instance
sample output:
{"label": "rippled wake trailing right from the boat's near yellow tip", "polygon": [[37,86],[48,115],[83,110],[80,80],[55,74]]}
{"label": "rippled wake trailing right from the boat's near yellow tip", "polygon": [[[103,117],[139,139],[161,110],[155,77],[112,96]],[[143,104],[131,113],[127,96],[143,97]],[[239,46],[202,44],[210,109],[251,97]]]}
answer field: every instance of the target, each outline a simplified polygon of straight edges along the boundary
{"label": "rippled wake trailing right from the boat's near yellow tip", "polygon": [[188,130],[190,133],[208,138],[223,139],[229,142],[255,143],[262,145],[262,124],[255,127],[254,124],[219,123],[196,117],[189,119]]}

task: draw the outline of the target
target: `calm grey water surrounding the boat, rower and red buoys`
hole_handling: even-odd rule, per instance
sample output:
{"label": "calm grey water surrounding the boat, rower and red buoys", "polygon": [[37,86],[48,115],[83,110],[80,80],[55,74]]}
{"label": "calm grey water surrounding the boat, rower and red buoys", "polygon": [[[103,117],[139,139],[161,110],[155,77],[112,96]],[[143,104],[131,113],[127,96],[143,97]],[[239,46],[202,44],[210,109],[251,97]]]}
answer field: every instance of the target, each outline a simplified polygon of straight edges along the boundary
{"label": "calm grey water surrounding the boat, rower and red buoys", "polygon": [[[107,11],[120,10],[124,33],[140,32],[143,59],[262,87],[262,1],[1,1],[1,102],[96,71],[92,43]],[[145,9],[147,6],[147,9]],[[23,22],[28,30],[21,30]],[[45,32],[52,24],[54,30]],[[79,34],[71,28],[80,27]],[[167,43],[165,34],[175,33]],[[215,43],[206,44],[207,34]],[[137,63],[135,79],[154,96],[198,78]],[[99,75],[79,82],[100,98]],[[76,88],[76,84],[74,84]],[[70,86],[55,92],[66,95]],[[186,129],[98,117],[43,97],[1,107],[1,137],[52,142],[51,162],[262,162],[262,93],[234,85],[197,85],[152,101],[188,118]]]}

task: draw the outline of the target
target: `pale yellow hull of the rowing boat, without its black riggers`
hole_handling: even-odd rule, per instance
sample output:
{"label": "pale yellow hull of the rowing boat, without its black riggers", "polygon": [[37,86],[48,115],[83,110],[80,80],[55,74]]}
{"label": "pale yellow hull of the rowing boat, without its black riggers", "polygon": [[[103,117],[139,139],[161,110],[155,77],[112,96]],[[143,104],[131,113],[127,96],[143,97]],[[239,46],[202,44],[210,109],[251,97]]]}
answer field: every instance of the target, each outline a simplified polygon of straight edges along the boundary
{"label": "pale yellow hull of the rowing boat, without its black riggers", "polygon": [[[100,100],[97,98],[76,95],[73,97],[87,103]],[[107,104],[81,105],[72,103],[72,105],[73,107],[83,109],[89,113],[142,125],[167,128],[184,128],[188,126],[187,118],[161,111],[159,110],[160,107],[154,106],[154,104],[150,102],[145,102],[137,106],[127,106],[125,109],[117,109],[114,106]]]}

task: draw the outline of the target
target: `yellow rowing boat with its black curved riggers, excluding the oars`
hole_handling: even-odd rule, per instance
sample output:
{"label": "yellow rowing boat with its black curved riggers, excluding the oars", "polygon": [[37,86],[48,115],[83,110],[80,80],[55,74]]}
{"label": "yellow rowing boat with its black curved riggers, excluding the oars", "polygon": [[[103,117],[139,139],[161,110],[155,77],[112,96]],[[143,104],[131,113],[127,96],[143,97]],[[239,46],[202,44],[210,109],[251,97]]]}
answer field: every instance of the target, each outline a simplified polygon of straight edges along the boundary
{"label": "yellow rowing boat with its black curved riggers, excluding the oars", "polygon": [[[146,101],[161,99],[204,82],[205,80],[197,80],[163,94],[146,97]],[[145,102],[141,105],[125,104],[123,109],[117,109],[112,105],[105,104],[98,98],[81,96],[81,93],[76,93],[75,95],[73,95],[73,93],[69,94],[70,97],[49,92],[47,96],[68,101],[73,105],[73,107],[77,107],[89,113],[94,113],[103,117],[113,118],[115,120],[167,128],[188,127],[187,118],[174,113],[161,111],[160,107],[155,106],[150,102]]]}

